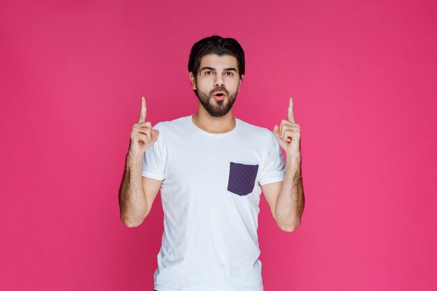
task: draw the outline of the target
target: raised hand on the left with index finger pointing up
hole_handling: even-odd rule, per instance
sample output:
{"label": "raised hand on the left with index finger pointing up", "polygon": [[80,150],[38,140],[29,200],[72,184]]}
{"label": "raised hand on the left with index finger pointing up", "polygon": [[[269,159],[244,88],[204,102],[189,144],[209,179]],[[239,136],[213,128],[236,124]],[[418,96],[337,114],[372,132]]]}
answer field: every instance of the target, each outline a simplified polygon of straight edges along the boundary
{"label": "raised hand on the left with index finger pointing up", "polygon": [[142,156],[158,140],[159,130],[152,130],[151,123],[146,121],[146,99],[141,97],[141,112],[138,124],[132,126],[129,154]]}

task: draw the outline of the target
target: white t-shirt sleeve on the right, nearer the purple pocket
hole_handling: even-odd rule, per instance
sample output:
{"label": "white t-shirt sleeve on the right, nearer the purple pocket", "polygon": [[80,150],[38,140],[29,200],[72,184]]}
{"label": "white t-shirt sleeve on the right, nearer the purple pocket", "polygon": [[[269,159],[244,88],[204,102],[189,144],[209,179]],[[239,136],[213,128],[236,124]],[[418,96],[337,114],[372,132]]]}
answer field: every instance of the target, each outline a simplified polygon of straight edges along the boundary
{"label": "white t-shirt sleeve on the right, nearer the purple pocket", "polygon": [[268,130],[267,135],[267,156],[265,162],[262,164],[260,178],[258,183],[260,185],[270,184],[274,182],[283,181],[286,172],[286,163],[282,154],[281,147],[274,137],[274,134]]}

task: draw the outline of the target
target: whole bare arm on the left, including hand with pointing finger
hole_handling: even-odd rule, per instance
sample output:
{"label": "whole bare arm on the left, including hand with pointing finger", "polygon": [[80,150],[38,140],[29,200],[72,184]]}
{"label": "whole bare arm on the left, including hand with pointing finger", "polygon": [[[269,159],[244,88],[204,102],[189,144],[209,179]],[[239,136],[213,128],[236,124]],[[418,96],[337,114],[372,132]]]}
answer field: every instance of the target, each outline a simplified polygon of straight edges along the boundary
{"label": "whole bare arm on the left, including hand with pointing finger", "polygon": [[151,123],[145,122],[146,114],[146,100],[142,97],[140,119],[132,128],[119,189],[120,218],[128,227],[137,227],[145,220],[161,187],[161,181],[141,176],[142,156],[159,136],[159,131],[152,130]]}

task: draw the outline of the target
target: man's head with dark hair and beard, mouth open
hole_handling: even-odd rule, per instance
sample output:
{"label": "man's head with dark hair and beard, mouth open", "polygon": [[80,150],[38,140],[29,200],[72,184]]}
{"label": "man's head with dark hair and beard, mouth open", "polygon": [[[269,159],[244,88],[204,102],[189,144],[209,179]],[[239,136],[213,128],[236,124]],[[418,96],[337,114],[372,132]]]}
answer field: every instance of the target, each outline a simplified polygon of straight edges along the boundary
{"label": "man's head with dark hair and beard, mouth open", "polygon": [[[221,117],[232,108],[244,77],[244,51],[233,38],[210,36],[191,48],[191,86],[205,110]],[[223,96],[214,96],[222,93]]]}

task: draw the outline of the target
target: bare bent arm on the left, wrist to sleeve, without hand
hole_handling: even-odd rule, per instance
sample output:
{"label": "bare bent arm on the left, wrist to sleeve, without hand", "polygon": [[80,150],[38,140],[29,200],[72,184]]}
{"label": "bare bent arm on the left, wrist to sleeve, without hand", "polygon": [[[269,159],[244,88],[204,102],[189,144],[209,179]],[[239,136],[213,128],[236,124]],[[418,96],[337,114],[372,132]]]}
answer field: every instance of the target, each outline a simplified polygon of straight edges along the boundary
{"label": "bare bent arm on the left, wrist to sleeve, without hand", "polygon": [[127,227],[140,225],[151,210],[162,181],[141,176],[142,157],[126,156],[119,191],[120,218]]}

